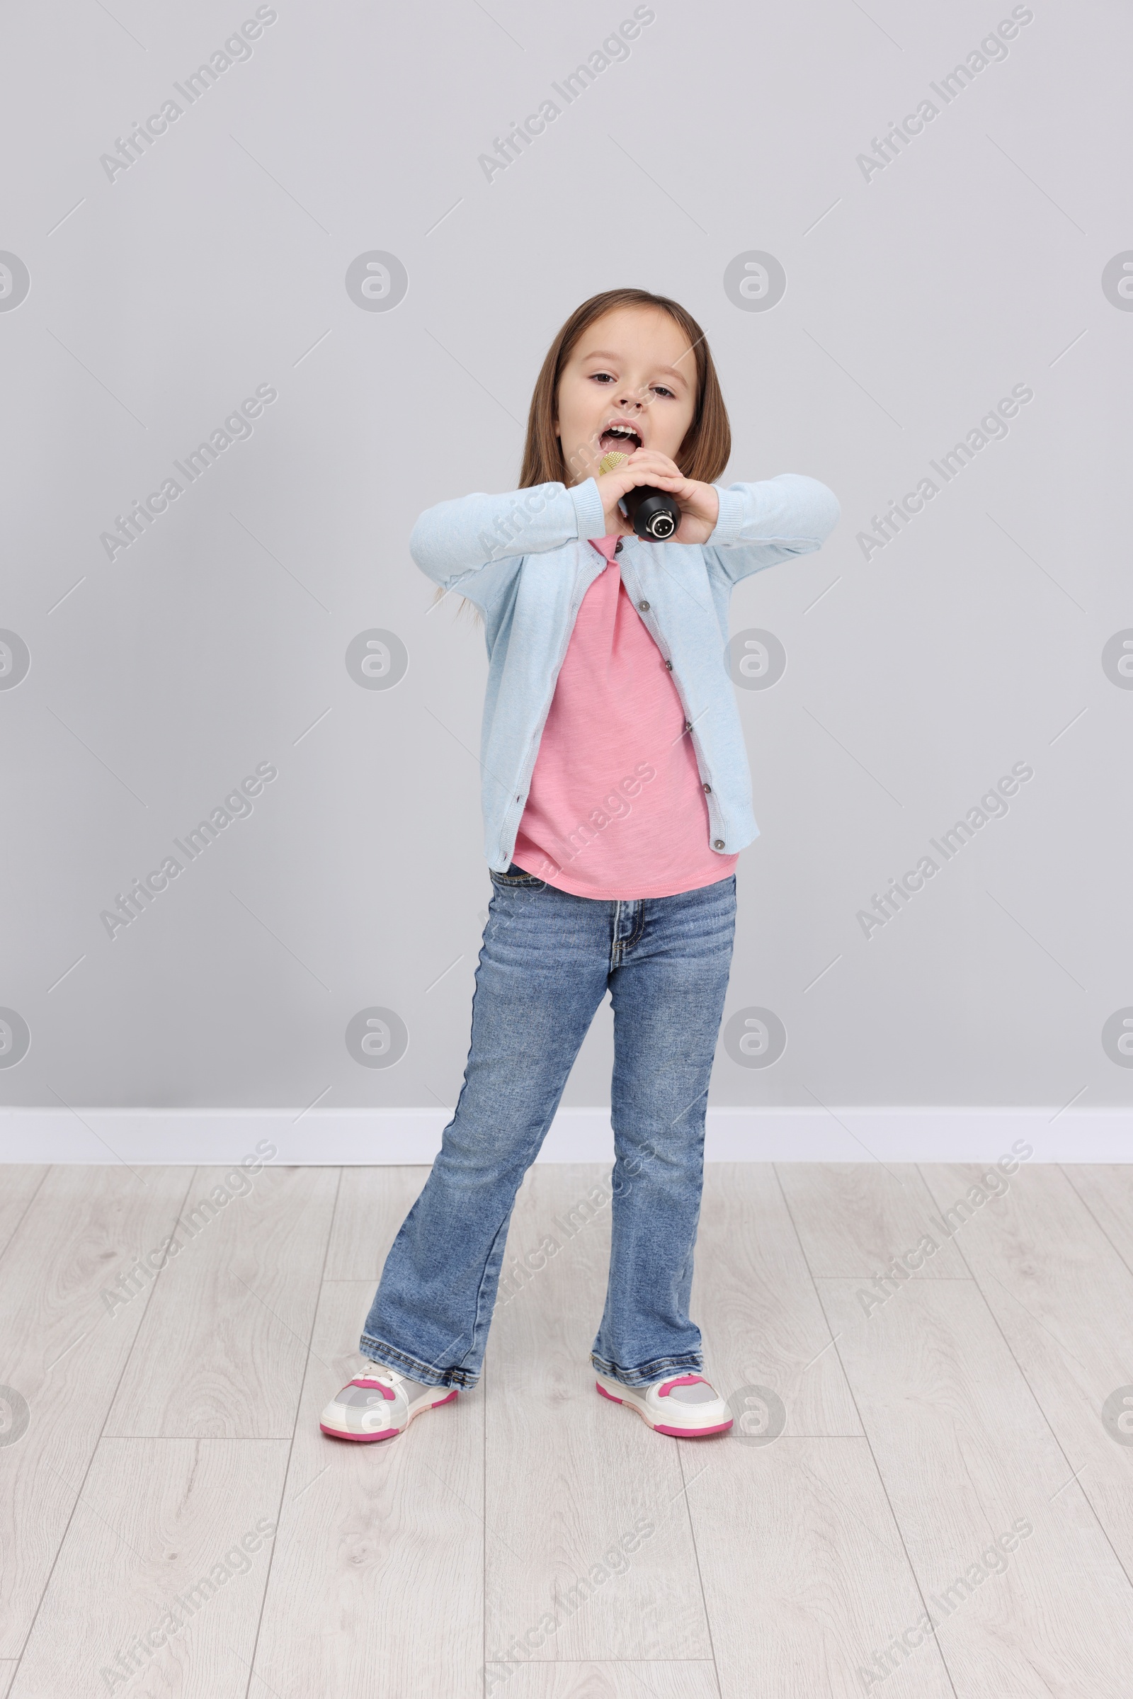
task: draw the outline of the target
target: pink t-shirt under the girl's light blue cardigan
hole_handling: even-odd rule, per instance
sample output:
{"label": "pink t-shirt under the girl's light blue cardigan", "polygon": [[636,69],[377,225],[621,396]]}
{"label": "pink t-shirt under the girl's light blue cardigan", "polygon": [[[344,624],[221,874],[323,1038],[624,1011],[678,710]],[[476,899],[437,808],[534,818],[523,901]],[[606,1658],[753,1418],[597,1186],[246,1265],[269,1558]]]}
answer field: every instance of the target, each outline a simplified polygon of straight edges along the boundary
{"label": "pink t-shirt under the girl's light blue cardigan", "polygon": [[574,897],[674,897],[727,878],[673,675],[613,552],[583,596],[511,860]]}

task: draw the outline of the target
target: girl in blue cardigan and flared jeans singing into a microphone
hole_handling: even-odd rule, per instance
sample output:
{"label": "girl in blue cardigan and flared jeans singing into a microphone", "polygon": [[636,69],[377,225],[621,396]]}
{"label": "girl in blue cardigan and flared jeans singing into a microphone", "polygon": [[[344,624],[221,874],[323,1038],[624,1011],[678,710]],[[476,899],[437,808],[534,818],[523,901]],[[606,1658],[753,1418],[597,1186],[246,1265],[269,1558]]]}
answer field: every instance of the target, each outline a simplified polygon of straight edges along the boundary
{"label": "girl in blue cardigan and flared jeans singing into a microphone", "polygon": [[[605,455],[627,459],[605,471]],[[452,1121],[362,1330],[370,1368],[321,1429],[375,1441],[476,1386],[508,1222],[606,989],[613,1004],[610,1279],[596,1388],[661,1434],[732,1425],[688,1315],[708,1075],[758,836],[724,663],[729,596],[812,554],[839,508],[812,477],[713,483],[730,454],[703,333],[612,289],[555,336],[520,488],[442,501],[409,549],[484,617],[484,928]],[[634,533],[639,484],[681,510]]]}

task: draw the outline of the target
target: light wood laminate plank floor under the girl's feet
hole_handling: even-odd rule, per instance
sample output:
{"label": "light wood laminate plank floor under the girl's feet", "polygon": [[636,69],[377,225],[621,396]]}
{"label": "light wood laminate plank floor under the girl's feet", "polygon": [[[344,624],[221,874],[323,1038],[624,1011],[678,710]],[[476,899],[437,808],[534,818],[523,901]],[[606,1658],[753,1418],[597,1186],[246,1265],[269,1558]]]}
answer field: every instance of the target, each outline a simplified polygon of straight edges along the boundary
{"label": "light wood laminate plank floor under the girl's feet", "polygon": [[557,1254],[374,1446],[318,1419],[428,1171],[268,1164],[109,1298],[226,1172],[0,1167],[0,1699],[1133,1694],[1133,1167],[710,1164],[693,1442],[595,1391],[608,1166],[537,1164]]}

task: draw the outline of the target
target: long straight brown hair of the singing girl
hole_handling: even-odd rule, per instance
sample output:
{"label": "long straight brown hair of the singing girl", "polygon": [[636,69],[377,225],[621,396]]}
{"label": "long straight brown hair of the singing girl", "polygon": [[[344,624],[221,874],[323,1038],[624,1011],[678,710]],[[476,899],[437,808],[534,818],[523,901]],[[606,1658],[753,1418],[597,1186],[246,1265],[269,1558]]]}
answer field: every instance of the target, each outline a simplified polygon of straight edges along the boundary
{"label": "long straight brown hair of the singing girl", "polygon": [[[600,296],[583,301],[581,308],[571,313],[547,350],[527,415],[520,489],[530,489],[535,484],[571,484],[562,442],[555,433],[559,379],[583,331],[603,313],[613,313],[617,308],[659,308],[688,336],[696,358],[696,409],[674,459],[685,477],[693,477],[700,484],[710,484],[724,472],[732,454],[732,428],[700,325],[679,301],[671,301],[669,296],[654,296],[647,289],[605,289]],[[438,586],[433,603],[442,601],[447,593]],[[481,612],[476,603],[469,601],[467,596],[462,596],[460,601],[474,610],[479,622]]]}

